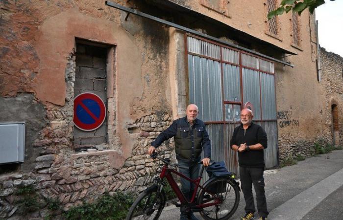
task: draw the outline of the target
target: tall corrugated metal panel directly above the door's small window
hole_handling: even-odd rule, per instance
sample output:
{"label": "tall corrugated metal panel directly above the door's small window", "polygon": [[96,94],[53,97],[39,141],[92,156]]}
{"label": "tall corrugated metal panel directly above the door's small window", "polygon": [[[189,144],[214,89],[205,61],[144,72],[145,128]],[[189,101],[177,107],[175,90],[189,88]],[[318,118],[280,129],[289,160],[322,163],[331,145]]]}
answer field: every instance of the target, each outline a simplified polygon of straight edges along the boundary
{"label": "tall corrugated metal panel directly above the door's small window", "polygon": [[241,101],[240,68],[239,66],[223,64],[224,100]]}

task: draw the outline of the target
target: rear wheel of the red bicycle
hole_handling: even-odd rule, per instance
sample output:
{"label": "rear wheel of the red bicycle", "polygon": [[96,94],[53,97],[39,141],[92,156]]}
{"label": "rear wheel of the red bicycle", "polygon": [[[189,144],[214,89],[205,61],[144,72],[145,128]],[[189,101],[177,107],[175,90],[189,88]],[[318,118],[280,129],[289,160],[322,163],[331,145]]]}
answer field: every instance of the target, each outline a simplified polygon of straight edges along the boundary
{"label": "rear wheel of the red bicycle", "polygon": [[221,204],[206,207],[200,212],[205,220],[227,220],[236,212],[240,202],[240,193],[238,186],[233,181],[228,177],[215,178],[205,186],[205,190],[200,192],[198,204],[215,201],[216,198],[207,192],[222,200]]}

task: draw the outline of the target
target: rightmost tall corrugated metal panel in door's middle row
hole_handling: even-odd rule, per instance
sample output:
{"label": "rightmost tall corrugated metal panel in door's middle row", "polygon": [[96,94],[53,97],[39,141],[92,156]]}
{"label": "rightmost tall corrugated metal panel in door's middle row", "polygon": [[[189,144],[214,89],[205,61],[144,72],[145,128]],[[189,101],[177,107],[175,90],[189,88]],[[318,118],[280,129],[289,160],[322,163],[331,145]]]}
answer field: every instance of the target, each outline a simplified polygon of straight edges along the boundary
{"label": "rightmost tall corrugated metal panel in door's middle row", "polygon": [[262,118],[276,119],[274,75],[261,74]]}

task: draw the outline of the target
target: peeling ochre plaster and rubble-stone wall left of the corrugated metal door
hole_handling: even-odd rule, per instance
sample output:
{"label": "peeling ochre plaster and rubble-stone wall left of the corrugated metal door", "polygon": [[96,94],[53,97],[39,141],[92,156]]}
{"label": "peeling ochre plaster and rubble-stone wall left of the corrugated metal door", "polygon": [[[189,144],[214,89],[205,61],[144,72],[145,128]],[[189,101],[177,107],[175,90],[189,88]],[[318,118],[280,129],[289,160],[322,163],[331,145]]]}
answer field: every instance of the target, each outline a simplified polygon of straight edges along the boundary
{"label": "peeling ochre plaster and rubble-stone wall left of the corrugated metal door", "polygon": [[[0,120],[26,121],[30,135],[25,163],[0,175],[5,207],[0,217],[24,215],[15,205],[22,184],[33,184],[41,196],[59,199],[66,209],[104,192],[144,189],[156,169],[147,146],[173,119],[166,93],[171,87],[168,28],[132,15],[125,21],[126,13],[100,0],[1,1],[0,8],[0,105],[10,114]],[[109,133],[114,148],[73,149],[75,38],[113,46],[108,108],[114,112]],[[161,150],[173,157],[172,141],[166,144]]]}

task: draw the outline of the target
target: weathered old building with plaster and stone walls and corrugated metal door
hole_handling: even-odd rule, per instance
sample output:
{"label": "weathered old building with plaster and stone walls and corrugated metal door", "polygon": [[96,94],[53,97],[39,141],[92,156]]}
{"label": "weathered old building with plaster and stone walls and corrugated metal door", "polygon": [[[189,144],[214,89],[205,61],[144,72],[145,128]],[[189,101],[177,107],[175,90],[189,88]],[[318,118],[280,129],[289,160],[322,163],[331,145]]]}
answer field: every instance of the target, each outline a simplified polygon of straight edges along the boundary
{"label": "weathered old building with plaster and stone walls and corrugated metal door", "polygon": [[[339,144],[342,77],[332,66],[340,64],[322,52],[320,81],[314,16],[268,21],[277,4],[1,1],[0,217],[20,215],[15,192],[23,184],[65,209],[145,189],[156,170],[149,143],[189,103],[207,124],[213,158],[234,172],[228,141],[246,103],[268,133],[268,168],[311,155],[314,142],[331,143],[334,133]],[[74,98],[86,92],[106,108],[104,123],[87,132],[73,124]],[[174,158],[172,140],[161,152]]]}

